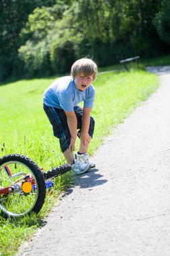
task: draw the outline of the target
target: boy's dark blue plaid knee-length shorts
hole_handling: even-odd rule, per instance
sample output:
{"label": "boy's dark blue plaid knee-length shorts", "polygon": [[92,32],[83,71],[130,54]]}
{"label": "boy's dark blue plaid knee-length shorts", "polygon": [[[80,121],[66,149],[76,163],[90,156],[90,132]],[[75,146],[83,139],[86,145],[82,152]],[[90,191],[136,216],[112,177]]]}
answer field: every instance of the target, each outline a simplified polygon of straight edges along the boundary
{"label": "boy's dark blue plaid knee-length shorts", "polygon": [[[53,133],[55,137],[58,137],[60,141],[60,149],[65,152],[70,145],[71,134],[67,124],[67,116],[65,111],[60,108],[54,108],[53,106],[43,105],[44,111],[52,125]],[[75,115],[77,117],[77,129],[79,129],[77,135],[81,132],[82,116],[83,112],[79,106],[74,107]],[[93,137],[93,131],[95,128],[95,121],[93,117],[90,117],[89,135]]]}

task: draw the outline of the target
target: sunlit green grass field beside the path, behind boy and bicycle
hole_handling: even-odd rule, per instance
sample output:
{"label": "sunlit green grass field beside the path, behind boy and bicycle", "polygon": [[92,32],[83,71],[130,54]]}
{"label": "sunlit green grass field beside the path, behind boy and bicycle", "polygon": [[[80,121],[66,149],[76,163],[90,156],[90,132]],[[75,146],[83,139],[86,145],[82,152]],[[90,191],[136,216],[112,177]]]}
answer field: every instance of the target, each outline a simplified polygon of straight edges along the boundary
{"label": "sunlit green grass field beside the path, behind boy and bicycle", "polygon": [[[54,77],[21,80],[0,86],[0,157],[11,153],[24,154],[44,170],[65,162],[58,140],[52,135],[50,123],[42,109],[42,94],[52,81]],[[95,133],[89,148],[90,154],[95,152],[114,127],[122,123],[136,106],[158,88],[159,79],[146,71],[110,71],[100,73],[93,85],[96,90],[92,112]],[[43,226],[44,216],[61,191],[71,185],[73,177],[67,173],[54,180],[54,193],[46,197],[38,216],[32,214],[21,220],[4,220],[0,217],[0,255],[13,255],[24,240]]]}

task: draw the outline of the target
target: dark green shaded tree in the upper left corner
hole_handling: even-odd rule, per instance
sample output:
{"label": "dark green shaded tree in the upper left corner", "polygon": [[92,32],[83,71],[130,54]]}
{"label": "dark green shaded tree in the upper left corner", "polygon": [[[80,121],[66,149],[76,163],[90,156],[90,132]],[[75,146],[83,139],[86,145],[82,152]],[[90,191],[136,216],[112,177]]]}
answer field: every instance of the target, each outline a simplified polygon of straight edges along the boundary
{"label": "dark green shaded tree in the upper left corner", "polygon": [[35,7],[52,5],[56,0],[1,0],[0,1],[0,79],[22,73],[17,49],[23,43],[19,33],[25,26],[28,14]]}

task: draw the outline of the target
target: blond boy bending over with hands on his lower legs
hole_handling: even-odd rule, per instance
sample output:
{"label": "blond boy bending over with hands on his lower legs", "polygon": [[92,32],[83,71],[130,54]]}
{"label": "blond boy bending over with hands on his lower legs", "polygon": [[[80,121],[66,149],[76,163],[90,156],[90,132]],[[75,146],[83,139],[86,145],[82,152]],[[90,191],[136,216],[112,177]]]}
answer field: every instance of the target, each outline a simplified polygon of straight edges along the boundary
{"label": "blond boy bending over with hands on his lower legs", "polygon": [[[56,79],[44,92],[44,111],[54,136],[60,141],[62,153],[75,174],[82,174],[95,167],[95,164],[89,163],[87,152],[95,126],[90,113],[95,98],[91,82],[96,75],[97,65],[91,59],[79,59],[71,67],[71,76]],[[77,105],[81,101],[84,102],[83,108]],[[77,135],[80,145],[74,155]]]}

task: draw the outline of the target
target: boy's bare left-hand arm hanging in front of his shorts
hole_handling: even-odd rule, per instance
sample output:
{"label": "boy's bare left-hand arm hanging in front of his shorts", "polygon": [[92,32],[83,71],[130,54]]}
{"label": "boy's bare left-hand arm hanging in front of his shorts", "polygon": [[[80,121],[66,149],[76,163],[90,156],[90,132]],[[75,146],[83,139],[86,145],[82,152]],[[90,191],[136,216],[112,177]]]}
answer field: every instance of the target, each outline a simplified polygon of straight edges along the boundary
{"label": "boy's bare left-hand arm hanging in front of his shorts", "polygon": [[75,141],[77,138],[77,117],[75,115],[75,111],[65,111],[65,114],[67,115],[67,124],[71,133],[71,143],[69,148],[73,151],[75,150]]}

